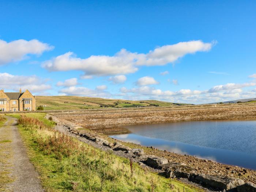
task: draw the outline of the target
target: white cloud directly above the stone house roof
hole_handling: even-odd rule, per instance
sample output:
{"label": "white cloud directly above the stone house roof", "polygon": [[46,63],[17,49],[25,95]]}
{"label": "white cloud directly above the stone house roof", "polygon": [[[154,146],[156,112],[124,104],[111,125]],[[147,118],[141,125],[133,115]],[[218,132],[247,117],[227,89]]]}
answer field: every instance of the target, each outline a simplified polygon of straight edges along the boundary
{"label": "white cloud directly above the stone house roof", "polygon": [[49,84],[45,84],[47,80],[38,78],[35,75],[22,76],[0,73],[0,79],[1,89],[18,91],[21,87],[23,90],[28,89],[31,92],[39,93],[52,88]]}

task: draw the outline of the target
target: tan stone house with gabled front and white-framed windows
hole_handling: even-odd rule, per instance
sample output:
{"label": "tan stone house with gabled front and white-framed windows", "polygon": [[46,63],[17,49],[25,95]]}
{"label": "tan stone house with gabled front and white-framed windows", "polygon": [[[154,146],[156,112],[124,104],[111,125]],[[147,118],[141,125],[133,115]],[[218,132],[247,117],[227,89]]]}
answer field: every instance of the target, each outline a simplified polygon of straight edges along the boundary
{"label": "tan stone house with gabled front and white-framed windows", "polygon": [[35,110],[35,96],[29,90],[17,93],[5,93],[0,90],[0,111],[31,111]]}

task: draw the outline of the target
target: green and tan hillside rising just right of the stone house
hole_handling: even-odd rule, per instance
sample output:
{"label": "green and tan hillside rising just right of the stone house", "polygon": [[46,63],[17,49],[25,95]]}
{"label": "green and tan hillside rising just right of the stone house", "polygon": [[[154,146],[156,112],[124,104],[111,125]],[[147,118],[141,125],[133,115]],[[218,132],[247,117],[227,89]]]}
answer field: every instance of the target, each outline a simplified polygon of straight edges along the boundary
{"label": "green and tan hillside rising just right of the stone house", "polygon": [[177,106],[184,103],[171,103],[157,100],[129,101],[77,96],[36,96],[36,108],[46,105],[46,110],[92,109],[92,108],[130,108],[146,106]]}

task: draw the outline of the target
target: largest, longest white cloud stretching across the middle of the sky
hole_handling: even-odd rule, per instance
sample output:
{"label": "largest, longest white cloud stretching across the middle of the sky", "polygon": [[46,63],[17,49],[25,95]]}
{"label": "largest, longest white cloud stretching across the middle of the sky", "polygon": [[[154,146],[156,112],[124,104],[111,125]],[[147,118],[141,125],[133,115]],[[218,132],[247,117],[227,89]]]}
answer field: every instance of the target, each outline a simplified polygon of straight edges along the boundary
{"label": "largest, longest white cloud stretching across the middle of the sky", "polygon": [[45,61],[42,67],[49,71],[80,70],[86,76],[107,76],[130,74],[138,71],[138,66],[166,65],[173,63],[186,54],[209,51],[215,42],[204,43],[198,41],[179,42],[174,45],[165,45],[148,53],[132,53],[121,49],[114,56],[92,55],[86,59],[76,57],[74,53],[67,52],[52,60]]}

